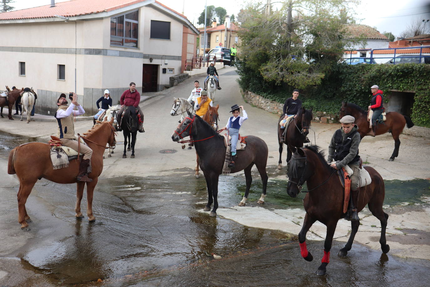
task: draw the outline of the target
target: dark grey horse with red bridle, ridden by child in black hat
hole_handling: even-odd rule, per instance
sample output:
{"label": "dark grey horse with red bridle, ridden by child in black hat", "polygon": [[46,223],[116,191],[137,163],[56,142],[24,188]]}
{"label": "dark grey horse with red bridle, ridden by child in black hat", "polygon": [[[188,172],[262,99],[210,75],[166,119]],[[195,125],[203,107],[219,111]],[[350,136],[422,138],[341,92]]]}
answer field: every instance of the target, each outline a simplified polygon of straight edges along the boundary
{"label": "dark grey horse with red bridle, ridden by child in black hat", "polygon": [[[197,115],[186,117],[172,134],[172,140],[179,142],[186,136],[192,136],[194,147],[200,158],[200,168],[206,179],[208,188],[208,203],[204,211],[209,211],[214,204],[209,216],[215,217],[218,209],[218,178],[222,173],[226,147],[224,137],[220,136],[213,128]],[[246,137],[246,148],[237,151],[236,167],[231,169],[231,173],[245,171],[246,191],[239,206],[245,206],[249,189],[252,183],[251,168],[255,164],[263,182],[263,192],[258,204],[264,203],[267,188],[267,164],[268,148],[264,140],[256,136]]]}

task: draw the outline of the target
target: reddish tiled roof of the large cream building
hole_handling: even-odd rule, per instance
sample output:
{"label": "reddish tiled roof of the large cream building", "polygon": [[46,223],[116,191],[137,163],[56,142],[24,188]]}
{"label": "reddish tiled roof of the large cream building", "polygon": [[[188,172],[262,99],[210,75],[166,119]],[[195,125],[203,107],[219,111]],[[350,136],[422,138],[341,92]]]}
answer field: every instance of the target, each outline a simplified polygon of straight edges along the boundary
{"label": "reddish tiled roof of the large cream building", "polygon": [[[100,12],[109,12],[120,9],[135,3],[145,2],[146,0],[71,0],[66,2],[55,3],[55,7],[49,5],[39,6],[34,8],[16,10],[11,12],[0,13],[1,20],[19,20],[19,19],[37,19],[37,18],[52,18],[54,15],[64,17],[74,17],[79,15],[95,14]],[[48,1],[47,1],[48,2]],[[185,18],[181,13],[161,4],[158,1],[155,3],[175,12]]]}

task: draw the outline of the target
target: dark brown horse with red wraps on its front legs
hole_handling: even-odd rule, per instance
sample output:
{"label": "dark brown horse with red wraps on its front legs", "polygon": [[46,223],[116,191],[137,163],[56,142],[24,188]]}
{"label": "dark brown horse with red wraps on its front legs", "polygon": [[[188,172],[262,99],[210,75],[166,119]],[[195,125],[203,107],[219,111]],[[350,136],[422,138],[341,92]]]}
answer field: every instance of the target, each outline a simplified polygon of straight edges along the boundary
{"label": "dark brown horse with red wraps on its front legs", "polygon": [[[338,176],[332,176],[336,170],[327,164],[324,154],[319,152],[316,145],[306,146],[304,148],[294,148],[294,154],[288,169],[287,193],[295,198],[304,182],[307,182],[309,188],[304,197],[303,205],[306,215],[303,226],[298,234],[301,256],[306,261],[312,261],[313,256],[307,251],[306,233],[312,224],[318,220],[327,226],[326,240],[324,242],[324,255],[321,265],[318,267],[317,275],[326,273],[326,266],[330,260],[330,249],[332,248],[333,235],[335,233],[338,220],[344,217],[344,187]],[[388,214],[384,213],[382,204],[384,203],[385,187],[381,175],[372,167],[365,167],[372,178],[369,185],[359,189],[356,197],[356,207],[361,211],[367,204],[373,216],[381,222],[381,238],[379,242],[383,253],[390,251],[390,246],[385,238],[387,228]],[[338,256],[347,256],[351,250],[354,237],[359,227],[359,221],[351,221],[350,238],[342,248]]]}

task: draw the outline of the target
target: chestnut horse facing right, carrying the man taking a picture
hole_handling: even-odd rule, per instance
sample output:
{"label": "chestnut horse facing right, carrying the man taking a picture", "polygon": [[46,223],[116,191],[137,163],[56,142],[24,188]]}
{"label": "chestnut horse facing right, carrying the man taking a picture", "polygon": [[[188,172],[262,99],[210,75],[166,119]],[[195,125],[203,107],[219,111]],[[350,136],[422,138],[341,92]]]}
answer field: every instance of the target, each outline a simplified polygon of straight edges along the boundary
{"label": "chestnut horse facing right, carrying the man taking a picture", "polygon": [[[92,149],[91,167],[92,171],[88,177],[92,182],[86,182],[87,194],[87,215],[90,222],[95,221],[92,214],[92,195],[95,185],[103,170],[103,153],[108,143],[110,146],[115,145],[115,128],[112,127],[112,119],[110,122],[103,122],[100,125],[92,127],[87,133],[84,133],[84,141]],[[18,222],[21,223],[22,230],[30,230],[27,222],[31,222],[30,216],[25,210],[25,202],[31,193],[31,189],[37,182],[37,179],[48,179],[57,183],[75,183],[76,176],[79,173],[78,159],[71,160],[68,167],[58,170],[52,168],[50,157],[51,146],[42,142],[30,142],[28,144],[19,145],[12,149],[9,154],[9,163],[7,173],[17,175],[19,179],[18,190]],[[76,191],[76,218],[83,218],[80,210],[80,203],[83,196],[83,188],[85,182],[77,182]]]}

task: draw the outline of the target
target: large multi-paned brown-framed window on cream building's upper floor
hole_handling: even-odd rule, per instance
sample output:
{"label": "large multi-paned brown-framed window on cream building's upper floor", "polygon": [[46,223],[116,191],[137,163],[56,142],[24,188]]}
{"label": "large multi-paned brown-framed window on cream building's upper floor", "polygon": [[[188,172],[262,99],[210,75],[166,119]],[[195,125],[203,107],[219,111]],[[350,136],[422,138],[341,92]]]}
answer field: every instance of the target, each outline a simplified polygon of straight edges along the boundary
{"label": "large multi-paned brown-framed window on cream building's upper floor", "polygon": [[138,11],[111,18],[111,46],[137,48]]}

